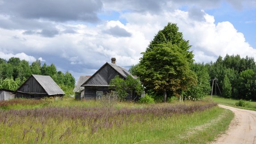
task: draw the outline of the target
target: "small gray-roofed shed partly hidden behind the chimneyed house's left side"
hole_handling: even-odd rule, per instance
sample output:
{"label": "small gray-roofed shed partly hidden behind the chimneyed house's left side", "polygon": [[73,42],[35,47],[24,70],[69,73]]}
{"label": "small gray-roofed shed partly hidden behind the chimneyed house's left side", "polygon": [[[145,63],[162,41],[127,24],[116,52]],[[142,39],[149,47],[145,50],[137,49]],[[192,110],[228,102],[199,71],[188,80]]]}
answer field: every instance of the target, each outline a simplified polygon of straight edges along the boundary
{"label": "small gray-roofed shed partly hidden behind the chimneyed house's left side", "polygon": [[73,89],[73,92],[75,92],[75,99],[81,100],[84,98],[84,87],[81,86],[84,84],[86,80],[88,80],[91,76],[80,76],[79,79],[76,82],[76,86]]}

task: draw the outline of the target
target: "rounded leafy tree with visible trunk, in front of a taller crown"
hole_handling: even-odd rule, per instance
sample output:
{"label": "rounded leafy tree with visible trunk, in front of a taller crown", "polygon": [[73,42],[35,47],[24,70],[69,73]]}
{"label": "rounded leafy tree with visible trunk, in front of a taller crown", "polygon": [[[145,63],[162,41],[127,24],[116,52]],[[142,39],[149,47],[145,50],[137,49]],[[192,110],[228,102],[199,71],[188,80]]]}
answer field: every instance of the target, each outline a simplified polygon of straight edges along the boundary
{"label": "rounded leafy tree with visible trunk, in front of a taller crown", "polygon": [[140,58],[139,76],[146,88],[163,92],[166,102],[167,91],[180,96],[191,85],[196,85],[196,74],[189,68],[190,60],[176,44],[156,44],[147,48]]}

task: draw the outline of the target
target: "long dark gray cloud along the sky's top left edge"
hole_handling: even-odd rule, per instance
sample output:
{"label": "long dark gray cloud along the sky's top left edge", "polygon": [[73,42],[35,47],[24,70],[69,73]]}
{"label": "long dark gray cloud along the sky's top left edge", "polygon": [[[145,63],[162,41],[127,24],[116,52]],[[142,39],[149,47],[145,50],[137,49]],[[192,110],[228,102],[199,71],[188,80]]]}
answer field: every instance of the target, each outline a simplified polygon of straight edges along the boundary
{"label": "long dark gray cloud along the sky's top left edge", "polygon": [[25,19],[96,22],[100,0],[3,0],[0,13]]}

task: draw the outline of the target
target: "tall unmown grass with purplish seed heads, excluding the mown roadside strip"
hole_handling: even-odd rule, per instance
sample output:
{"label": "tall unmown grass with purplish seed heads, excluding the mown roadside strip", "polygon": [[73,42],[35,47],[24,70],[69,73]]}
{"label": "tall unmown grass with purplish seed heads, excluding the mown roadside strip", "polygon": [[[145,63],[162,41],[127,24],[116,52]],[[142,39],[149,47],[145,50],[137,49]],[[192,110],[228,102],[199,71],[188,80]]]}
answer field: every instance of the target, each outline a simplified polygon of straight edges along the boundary
{"label": "tall unmown grass with purplish seed heads, excluding the mown roadside strip", "polygon": [[199,119],[195,117],[217,112],[216,103],[203,101],[124,105],[0,110],[0,143],[136,143],[146,139],[145,142],[157,142],[158,135],[163,139],[169,136],[162,132],[174,127],[180,132],[183,125],[185,129],[197,125]]}

